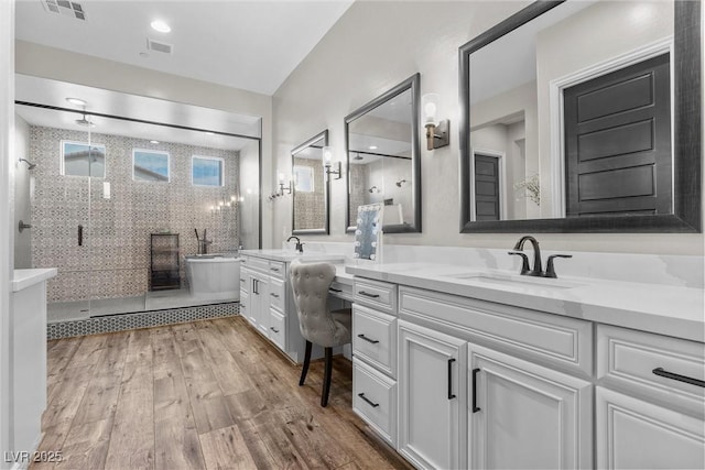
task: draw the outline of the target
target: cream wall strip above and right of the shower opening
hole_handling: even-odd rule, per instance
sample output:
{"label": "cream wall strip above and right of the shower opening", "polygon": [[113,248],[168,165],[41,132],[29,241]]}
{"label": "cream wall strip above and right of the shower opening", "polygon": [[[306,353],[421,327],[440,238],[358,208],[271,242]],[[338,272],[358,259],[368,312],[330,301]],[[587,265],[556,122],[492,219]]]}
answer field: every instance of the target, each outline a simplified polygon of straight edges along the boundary
{"label": "cream wall strip above and right of the shower opening", "polygon": [[[262,171],[271,174],[272,98],[221,85],[178,77],[147,68],[106,61],[68,51],[17,41],[15,72],[73,84],[160,98],[187,105],[262,118]],[[264,194],[271,192],[270,178],[264,178]],[[263,244],[271,234],[271,215],[263,206]]]}

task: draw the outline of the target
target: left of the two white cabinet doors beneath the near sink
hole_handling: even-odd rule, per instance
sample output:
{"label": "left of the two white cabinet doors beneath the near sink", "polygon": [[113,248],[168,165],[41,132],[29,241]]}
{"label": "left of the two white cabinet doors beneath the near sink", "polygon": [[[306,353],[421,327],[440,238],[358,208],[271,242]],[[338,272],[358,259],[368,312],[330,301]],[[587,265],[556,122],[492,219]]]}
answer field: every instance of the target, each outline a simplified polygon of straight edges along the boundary
{"label": "left of the two white cabinet doors beneath the near sink", "polygon": [[399,452],[419,468],[465,468],[467,341],[399,320]]}

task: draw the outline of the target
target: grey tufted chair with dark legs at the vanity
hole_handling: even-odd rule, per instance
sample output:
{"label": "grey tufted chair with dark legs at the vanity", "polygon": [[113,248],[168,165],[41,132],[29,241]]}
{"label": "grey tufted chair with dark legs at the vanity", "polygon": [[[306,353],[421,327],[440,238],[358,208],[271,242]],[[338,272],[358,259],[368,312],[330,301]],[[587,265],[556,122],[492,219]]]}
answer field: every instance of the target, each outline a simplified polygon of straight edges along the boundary
{"label": "grey tufted chair with dark legs at the vanity", "polygon": [[330,311],[328,309],[328,287],[335,277],[335,266],[330,263],[291,263],[289,278],[294,292],[294,303],[299,315],[301,335],[306,340],[306,353],[299,385],[303,385],[311,362],[312,345],[325,350],[325,373],[321,406],[328,404],[333,348],[350,342],[352,313],[349,308]]}

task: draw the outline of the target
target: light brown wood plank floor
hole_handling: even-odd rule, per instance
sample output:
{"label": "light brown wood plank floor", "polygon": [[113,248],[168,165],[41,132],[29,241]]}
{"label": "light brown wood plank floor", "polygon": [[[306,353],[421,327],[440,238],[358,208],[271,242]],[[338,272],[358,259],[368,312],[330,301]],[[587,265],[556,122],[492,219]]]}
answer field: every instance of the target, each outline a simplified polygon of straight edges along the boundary
{"label": "light brown wood plank floor", "polygon": [[241,317],[50,341],[40,451],[30,469],[410,468],[352,413],[351,364],[306,385]]}

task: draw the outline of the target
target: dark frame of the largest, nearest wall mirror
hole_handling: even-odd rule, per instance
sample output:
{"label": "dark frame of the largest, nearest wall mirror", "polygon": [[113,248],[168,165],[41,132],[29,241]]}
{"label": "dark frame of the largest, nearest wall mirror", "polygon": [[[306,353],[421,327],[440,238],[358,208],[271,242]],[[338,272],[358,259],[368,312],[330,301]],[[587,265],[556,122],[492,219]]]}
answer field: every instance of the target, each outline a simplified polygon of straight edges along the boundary
{"label": "dark frame of the largest, nearest wall mirror", "polygon": [[460,232],[701,232],[701,2],[687,0],[674,2],[673,214],[499,221],[470,219],[470,54],[564,1],[536,1],[459,47]]}

